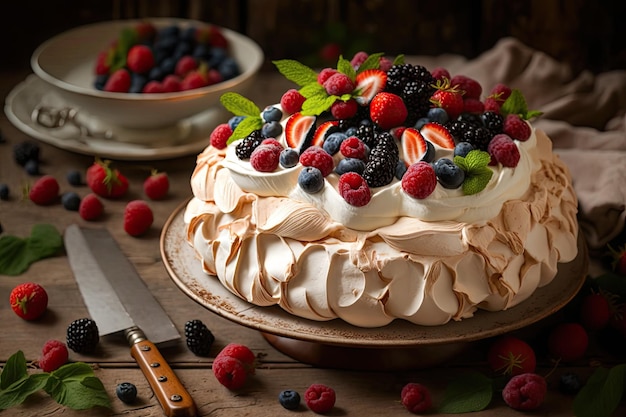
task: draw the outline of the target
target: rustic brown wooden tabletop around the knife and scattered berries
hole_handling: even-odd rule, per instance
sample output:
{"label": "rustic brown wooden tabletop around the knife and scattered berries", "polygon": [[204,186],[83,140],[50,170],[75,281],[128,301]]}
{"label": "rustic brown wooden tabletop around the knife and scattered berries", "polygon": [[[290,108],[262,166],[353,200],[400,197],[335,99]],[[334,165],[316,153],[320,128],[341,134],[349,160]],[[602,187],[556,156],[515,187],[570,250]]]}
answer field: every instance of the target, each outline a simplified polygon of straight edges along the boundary
{"label": "rustic brown wooden tabletop around the knife and scattered berries", "polygon": [[[22,81],[26,75],[28,74],[24,72],[2,74],[0,97],[3,101],[13,86]],[[264,106],[277,102],[281,91],[287,87],[290,87],[290,84],[282,77],[274,74],[261,74],[260,82],[247,96],[260,106]],[[65,210],[60,202],[42,207],[22,198],[23,185],[32,183],[35,178],[28,176],[13,161],[12,148],[29,137],[15,128],[4,113],[0,116],[0,129],[5,138],[5,143],[0,144],[0,182],[7,183],[11,189],[10,200],[0,201],[0,222],[4,233],[27,236],[31,227],[38,223],[53,224],[60,232],[72,223],[85,224],[77,212]],[[86,195],[89,189],[86,186],[70,186],[65,180],[65,174],[69,169],[84,171],[93,162],[93,156],[72,153],[45,143],[40,145],[41,171],[59,179],[61,192],[74,190],[81,196]],[[155,214],[154,224],[147,235],[135,238],[124,232],[122,214],[129,200],[145,198],[141,184],[146,171],[138,168],[138,164],[146,165],[145,162],[117,163],[117,166],[129,177],[130,191],[122,200],[106,200],[106,215],[103,219],[92,222],[91,225],[106,227],[112,233],[181,333],[185,322],[191,319],[201,319],[214,333],[216,341],[212,348],[212,355],[207,358],[193,355],[187,350],[182,339],[176,346],[163,349],[164,356],[195,399],[199,415],[257,417],[294,415],[293,411],[285,410],[279,405],[278,393],[284,389],[294,389],[303,394],[312,383],[327,384],[335,389],[337,402],[329,415],[410,415],[400,402],[400,391],[407,382],[421,382],[430,387],[435,405],[437,405],[450,381],[467,371],[488,373],[485,362],[485,347],[488,341],[473,343],[467,352],[433,369],[407,369],[392,372],[320,369],[299,363],[277,351],[256,330],[242,327],[206,310],[183,294],[173,283],[162,263],[159,249],[161,228],[181,202],[190,197],[189,177],[194,168],[195,155],[149,162],[151,166],[169,174],[170,194],[169,198],[164,201],[150,202]],[[48,311],[37,321],[22,320],[12,312],[8,303],[11,289],[26,281],[40,283],[49,294]],[[0,365],[4,365],[7,358],[17,350],[22,350],[28,361],[37,360],[43,344],[48,339],[64,341],[68,324],[86,316],[88,316],[87,309],[64,253],[34,263],[22,275],[0,276]],[[551,317],[550,319],[557,318]],[[237,392],[231,392],[221,386],[211,370],[213,357],[229,342],[246,344],[259,358],[256,375]],[[96,353],[80,355],[70,351],[70,360],[93,365],[96,376],[102,380],[111,397],[112,410],[94,408],[87,411],[74,411],[59,406],[47,394],[38,393],[30,397],[26,403],[1,414],[11,416],[163,415],[150,387],[130,357],[128,347],[123,343],[115,343],[103,338]],[[560,374],[576,372],[586,377],[591,374],[594,366],[599,364],[608,366],[615,363],[615,358],[591,352],[585,360],[579,363],[568,366],[559,365],[548,377],[549,392],[545,403],[536,415],[573,415],[573,397],[563,395],[557,389]],[[538,373],[548,375],[552,368],[553,364],[550,361],[539,357]],[[38,372],[38,370],[33,366],[30,372]],[[115,397],[116,385],[124,381],[130,381],[138,388],[139,398],[133,405],[125,405]],[[622,401],[622,406],[615,415],[625,415],[625,413],[626,406]],[[313,414],[304,406],[297,412],[297,415]],[[505,417],[523,415],[523,413],[510,409],[496,393],[486,410],[473,415]]]}

